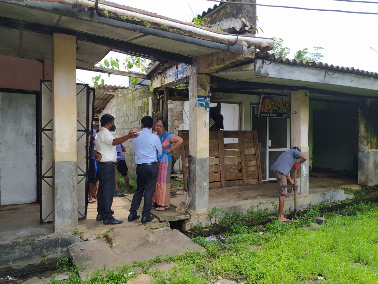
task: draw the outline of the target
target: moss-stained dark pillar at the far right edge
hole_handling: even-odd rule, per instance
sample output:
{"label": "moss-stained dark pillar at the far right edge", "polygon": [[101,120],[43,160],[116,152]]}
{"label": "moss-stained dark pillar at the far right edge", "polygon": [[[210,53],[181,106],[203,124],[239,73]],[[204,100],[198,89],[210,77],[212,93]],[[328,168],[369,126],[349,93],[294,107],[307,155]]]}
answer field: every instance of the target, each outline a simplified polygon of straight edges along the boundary
{"label": "moss-stained dark pillar at the far right edge", "polygon": [[358,113],[358,184],[378,184],[378,100],[368,98]]}

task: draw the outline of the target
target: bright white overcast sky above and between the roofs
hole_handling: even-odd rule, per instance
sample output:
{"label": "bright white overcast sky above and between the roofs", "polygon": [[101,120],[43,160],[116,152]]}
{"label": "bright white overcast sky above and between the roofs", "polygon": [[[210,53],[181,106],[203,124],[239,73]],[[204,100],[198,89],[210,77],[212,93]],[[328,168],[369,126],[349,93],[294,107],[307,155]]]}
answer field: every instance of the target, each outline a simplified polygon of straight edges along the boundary
{"label": "bright white overcast sky above and between the roofs", "polygon": [[[143,9],[173,19],[189,22],[191,9],[199,14],[213,7],[216,2],[206,0],[112,0],[122,5]],[[376,12],[378,4],[350,3],[335,0],[257,0],[258,4],[295,6],[316,9]],[[261,37],[280,37],[284,45],[296,50],[314,46],[324,47],[323,63],[354,67],[378,72],[378,15],[350,14],[341,12],[305,11],[298,9],[257,6]],[[110,56],[109,56],[110,57]],[[114,57],[114,55],[113,55]],[[293,58],[293,54],[288,58]],[[95,72],[78,70],[77,79],[91,84]],[[105,84],[120,85],[124,78],[102,75]]]}

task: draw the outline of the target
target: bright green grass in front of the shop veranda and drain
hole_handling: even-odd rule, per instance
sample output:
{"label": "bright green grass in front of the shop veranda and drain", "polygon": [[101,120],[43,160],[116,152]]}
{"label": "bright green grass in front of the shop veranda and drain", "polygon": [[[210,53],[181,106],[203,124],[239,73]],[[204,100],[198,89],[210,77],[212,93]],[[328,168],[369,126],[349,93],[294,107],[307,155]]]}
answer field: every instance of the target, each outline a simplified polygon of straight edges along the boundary
{"label": "bright green grass in front of the shop veranda and drain", "polygon": [[[193,238],[206,249],[204,252],[160,256],[118,270],[104,269],[86,283],[126,283],[136,276],[128,275],[136,266],[153,277],[154,284],[216,283],[218,276],[251,284],[313,284],[319,275],[324,276],[322,284],[378,283],[378,204],[362,203],[344,209],[354,216],[326,213],[330,220],[318,228],[305,229],[303,225],[320,215],[319,207],[312,209],[294,224],[273,218],[265,226],[247,228],[236,222],[223,234],[227,237],[225,243],[204,242],[203,236]],[[224,214],[222,209],[214,210],[212,217],[220,213]],[[249,214],[265,217],[264,210]],[[232,215],[226,217],[237,220]],[[166,261],[174,263],[169,271],[149,272],[153,264]],[[70,279],[60,283],[82,283],[72,273]]]}

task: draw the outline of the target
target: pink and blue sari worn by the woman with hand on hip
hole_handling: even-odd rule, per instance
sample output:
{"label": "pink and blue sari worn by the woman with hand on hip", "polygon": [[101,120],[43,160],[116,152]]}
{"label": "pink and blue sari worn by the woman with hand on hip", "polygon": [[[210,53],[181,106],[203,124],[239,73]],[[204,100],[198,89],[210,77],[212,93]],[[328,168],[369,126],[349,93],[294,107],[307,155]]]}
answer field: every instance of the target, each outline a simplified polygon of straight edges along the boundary
{"label": "pink and blue sari worn by the woman with hand on hip", "polygon": [[158,206],[169,206],[170,202],[170,169],[172,166],[172,154],[169,154],[170,139],[174,134],[164,132],[159,135],[161,147],[163,147],[163,153],[158,156],[159,174],[156,181],[155,194],[152,197],[152,202],[158,204]]}

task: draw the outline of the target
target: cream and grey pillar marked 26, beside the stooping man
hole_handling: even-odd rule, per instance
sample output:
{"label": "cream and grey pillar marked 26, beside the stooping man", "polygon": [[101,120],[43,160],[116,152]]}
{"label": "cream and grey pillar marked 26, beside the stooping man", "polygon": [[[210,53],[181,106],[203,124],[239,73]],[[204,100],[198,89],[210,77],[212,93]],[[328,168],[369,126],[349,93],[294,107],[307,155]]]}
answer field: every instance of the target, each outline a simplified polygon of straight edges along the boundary
{"label": "cream and grey pillar marked 26, beside the stooping man", "polygon": [[[291,148],[296,146],[308,158],[308,99],[307,90],[291,93]],[[308,194],[308,160],[297,171],[298,193]]]}

